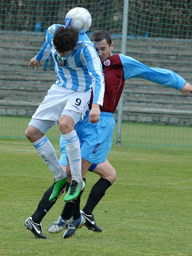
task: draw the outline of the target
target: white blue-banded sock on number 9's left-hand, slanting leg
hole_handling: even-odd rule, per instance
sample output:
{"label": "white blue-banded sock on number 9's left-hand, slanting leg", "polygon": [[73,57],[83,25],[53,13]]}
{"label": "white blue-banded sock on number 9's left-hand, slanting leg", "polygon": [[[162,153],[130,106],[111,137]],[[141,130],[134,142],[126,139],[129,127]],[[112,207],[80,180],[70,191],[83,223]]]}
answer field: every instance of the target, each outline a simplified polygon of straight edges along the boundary
{"label": "white blue-banded sock on number 9's left-hand, slanting leg", "polygon": [[56,181],[67,176],[59,163],[54,147],[45,135],[39,140],[32,142],[32,144],[37,149],[40,157],[52,171]]}

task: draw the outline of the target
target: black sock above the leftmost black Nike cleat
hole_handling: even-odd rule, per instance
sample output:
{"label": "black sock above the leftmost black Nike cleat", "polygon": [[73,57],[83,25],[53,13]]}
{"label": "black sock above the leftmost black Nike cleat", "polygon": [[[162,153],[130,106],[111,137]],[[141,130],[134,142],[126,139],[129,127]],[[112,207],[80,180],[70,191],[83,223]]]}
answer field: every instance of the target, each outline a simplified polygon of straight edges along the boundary
{"label": "black sock above the leftmost black Nike cleat", "polygon": [[53,192],[53,185],[47,189],[45,194],[43,195],[41,201],[39,202],[36,211],[31,215],[33,222],[41,223],[43,217],[48,213],[51,207],[55,204],[56,200],[53,202],[49,202],[49,197]]}

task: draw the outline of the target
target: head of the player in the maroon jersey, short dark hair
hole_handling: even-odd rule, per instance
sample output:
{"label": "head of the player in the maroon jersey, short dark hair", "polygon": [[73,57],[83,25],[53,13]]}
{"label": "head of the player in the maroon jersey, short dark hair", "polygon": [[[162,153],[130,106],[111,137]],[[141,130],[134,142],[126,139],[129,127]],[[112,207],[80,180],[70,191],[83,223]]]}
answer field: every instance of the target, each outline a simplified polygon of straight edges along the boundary
{"label": "head of the player in the maroon jersey, short dark hair", "polygon": [[105,30],[96,30],[93,32],[91,36],[91,41],[95,45],[95,49],[99,55],[99,58],[101,62],[104,62],[106,59],[108,59],[113,49],[113,43],[111,41],[111,36],[109,33]]}

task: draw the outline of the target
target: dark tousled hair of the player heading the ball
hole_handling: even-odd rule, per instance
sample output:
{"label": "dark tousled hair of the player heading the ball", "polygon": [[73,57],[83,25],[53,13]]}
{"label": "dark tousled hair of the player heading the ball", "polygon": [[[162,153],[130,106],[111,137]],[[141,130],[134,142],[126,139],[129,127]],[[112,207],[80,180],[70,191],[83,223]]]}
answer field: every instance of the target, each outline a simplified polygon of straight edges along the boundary
{"label": "dark tousled hair of the player heading the ball", "polygon": [[53,44],[58,52],[72,50],[79,39],[79,32],[72,27],[58,26],[53,36]]}

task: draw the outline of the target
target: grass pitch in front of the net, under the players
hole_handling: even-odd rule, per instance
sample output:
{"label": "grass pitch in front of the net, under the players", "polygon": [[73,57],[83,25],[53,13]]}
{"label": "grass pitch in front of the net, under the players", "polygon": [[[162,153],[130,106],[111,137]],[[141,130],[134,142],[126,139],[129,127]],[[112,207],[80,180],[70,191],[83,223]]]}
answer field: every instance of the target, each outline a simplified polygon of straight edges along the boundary
{"label": "grass pitch in front of the net, under the players", "polygon": [[[58,142],[53,141],[59,156]],[[53,182],[50,170],[26,139],[0,140],[3,256],[191,256],[192,148],[113,146],[108,157],[117,180],[94,210],[102,233],[86,227],[64,240],[46,228],[59,216],[63,196],[42,221],[48,240],[35,239],[24,221]],[[98,179],[87,174],[85,203]]]}

